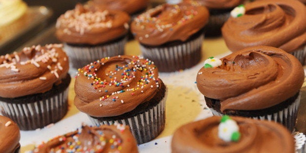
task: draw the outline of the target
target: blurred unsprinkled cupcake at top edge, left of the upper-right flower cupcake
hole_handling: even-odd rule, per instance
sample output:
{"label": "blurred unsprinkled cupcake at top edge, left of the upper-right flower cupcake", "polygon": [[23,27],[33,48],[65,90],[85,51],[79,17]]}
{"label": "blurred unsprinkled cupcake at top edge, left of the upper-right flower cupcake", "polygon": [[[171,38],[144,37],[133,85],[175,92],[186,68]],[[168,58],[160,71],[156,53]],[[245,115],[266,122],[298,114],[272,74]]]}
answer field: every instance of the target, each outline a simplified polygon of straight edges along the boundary
{"label": "blurred unsprinkled cupcake at top edge, left of the upper-right flower cupcake", "polygon": [[206,6],[210,11],[210,18],[205,26],[205,36],[217,37],[221,35],[221,27],[229,19],[230,12],[236,6],[243,6],[246,0],[195,0]]}

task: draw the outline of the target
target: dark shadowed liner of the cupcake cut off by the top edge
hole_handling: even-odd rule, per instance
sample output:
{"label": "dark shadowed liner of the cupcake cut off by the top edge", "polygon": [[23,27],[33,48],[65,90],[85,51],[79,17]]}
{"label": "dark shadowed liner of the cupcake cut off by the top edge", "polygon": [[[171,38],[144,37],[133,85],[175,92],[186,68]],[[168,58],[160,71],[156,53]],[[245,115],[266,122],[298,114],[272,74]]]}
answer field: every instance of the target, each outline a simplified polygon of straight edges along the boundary
{"label": "dark shadowed liner of the cupcake cut off by the top edge", "polygon": [[205,36],[216,37],[221,35],[223,24],[229,19],[230,12],[210,15],[207,25],[205,26]]}

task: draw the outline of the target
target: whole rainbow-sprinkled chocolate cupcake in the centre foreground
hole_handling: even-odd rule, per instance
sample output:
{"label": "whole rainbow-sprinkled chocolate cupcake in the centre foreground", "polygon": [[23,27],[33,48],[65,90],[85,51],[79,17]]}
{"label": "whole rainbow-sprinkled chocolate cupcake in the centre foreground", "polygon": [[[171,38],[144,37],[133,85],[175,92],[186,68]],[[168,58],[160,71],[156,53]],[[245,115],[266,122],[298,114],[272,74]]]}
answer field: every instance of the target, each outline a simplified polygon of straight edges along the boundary
{"label": "whole rainbow-sprinkled chocolate cupcake in the centre foreground", "polygon": [[166,91],[153,61],[105,57],[78,70],[74,103],[95,125],[129,125],[142,144],[164,129]]}

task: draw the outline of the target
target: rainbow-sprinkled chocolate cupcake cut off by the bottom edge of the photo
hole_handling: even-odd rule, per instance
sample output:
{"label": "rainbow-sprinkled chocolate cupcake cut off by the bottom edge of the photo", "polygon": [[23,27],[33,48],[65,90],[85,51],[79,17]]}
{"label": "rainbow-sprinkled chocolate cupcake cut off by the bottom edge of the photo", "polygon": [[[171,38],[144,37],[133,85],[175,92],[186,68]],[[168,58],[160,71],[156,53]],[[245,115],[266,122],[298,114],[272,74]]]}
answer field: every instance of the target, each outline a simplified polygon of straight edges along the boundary
{"label": "rainbow-sprinkled chocolate cupcake cut off by the bottom edge of the photo", "polygon": [[82,126],[37,146],[34,153],[138,153],[128,126]]}

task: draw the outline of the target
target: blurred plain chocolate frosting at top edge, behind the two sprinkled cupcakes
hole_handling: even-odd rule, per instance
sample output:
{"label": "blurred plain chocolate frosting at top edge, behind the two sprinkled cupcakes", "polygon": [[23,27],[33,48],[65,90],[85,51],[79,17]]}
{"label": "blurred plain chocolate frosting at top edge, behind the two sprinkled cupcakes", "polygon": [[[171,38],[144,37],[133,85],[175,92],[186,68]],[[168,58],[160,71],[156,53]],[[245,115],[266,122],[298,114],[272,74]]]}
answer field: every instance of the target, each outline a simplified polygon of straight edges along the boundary
{"label": "blurred plain chocolate frosting at top edge, behind the two sprinkled cupcakes", "polygon": [[91,0],[89,5],[97,6],[102,10],[119,10],[130,15],[147,8],[149,0]]}

